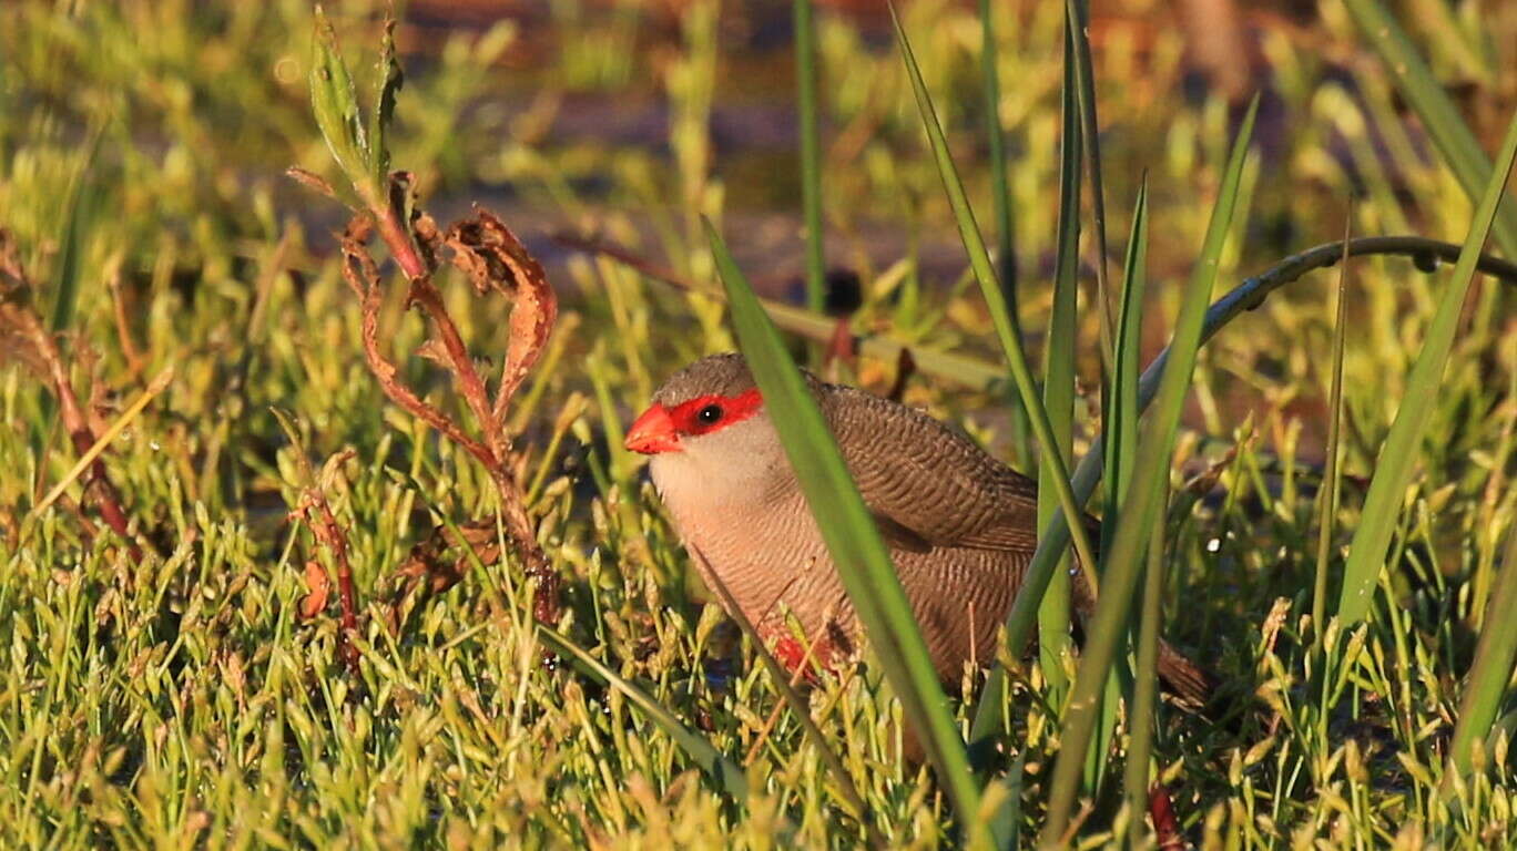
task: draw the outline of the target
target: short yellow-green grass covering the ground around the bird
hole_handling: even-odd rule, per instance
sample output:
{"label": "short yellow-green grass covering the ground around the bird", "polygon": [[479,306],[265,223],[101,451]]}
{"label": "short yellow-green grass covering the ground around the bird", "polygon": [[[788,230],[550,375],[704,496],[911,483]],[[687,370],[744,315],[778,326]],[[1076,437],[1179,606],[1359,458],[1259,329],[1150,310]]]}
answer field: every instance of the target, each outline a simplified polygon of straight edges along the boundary
{"label": "short yellow-green grass covering the ground around the bird", "polygon": [[[1471,196],[1485,184],[1471,188],[1462,141],[1464,171],[1429,156],[1437,146],[1403,115],[1396,80],[1355,29],[1371,6],[1324,3],[1312,39],[1261,30],[1276,112],[1261,118],[1258,165],[1239,177],[1247,225],[1218,249],[1220,290],[1336,241],[1352,191],[1364,196],[1355,234],[1405,223],[1458,243],[1470,232]],[[892,346],[906,343],[921,364],[907,402],[1001,457],[1018,452],[997,338],[1007,323],[985,300],[997,279],[989,264],[981,279],[965,272],[956,208],[980,211],[997,223],[992,243],[1015,246],[1021,328],[1047,328],[1066,5],[997,12],[997,126],[1015,153],[1004,176],[980,147],[992,76],[974,5],[901,8],[944,127],[936,152],[889,30],[816,9],[822,161],[804,179],[795,133],[780,153],[713,140],[749,108],[792,108],[789,53],[774,61],[734,44],[740,36],[718,23],[730,11],[715,3],[690,5],[674,26],[631,3],[598,9],[554,5],[552,21],[584,36],[558,52],[543,49],[551,32],[513,24],[423,33],[402,23],[407,80],[394,121],[353,126],[355,138],[388,149],[390,167],[414,173],[425,208],[482,199],[549,261],[557,337],[507,417],[537,539],[566,583],[560,637],[545,639],[514,558],[464,560],[455,587],[413,599],[400,630],[387,626],[396,569],[434,528],[485,517],[490,540],[510,532],[493,523],[501,498],[488,472],[387,402],[328,237],[341,209],[282,176],[290,165],[332,184],[341,176],[311,117],[309,5],[0,8],[0,228],[38,282],[30,302],[64,331],[68,376],[94,434],[109,437],[100,457],[146,552],[132,558],[105,529],[83,490],[88,473],[73,481],[82,451],[47,382],[0,337],[0,845],[856,846],[872,830],[890,845],[936,846],[960,842],[977,818],[1024,843],[1050,822],[1065,718],[1038,654],[1003,654],[1015,664],[995,699],[948,704],[951,724],[977,734],[971,760],[994,780],[968,795],[948,795],[930,769],[897,758],[903,708],[875,667],[824,677],[806,695],[830,757],[789,708],[769,728],[784,705],[780,687],[707,602],[619,437],[664,375],[734,346],[702,215],[722,221],[763,294],[801,293],[809,267],[795,211],[801,187],[821,174],[827,256],[854,268],[865,294],[851,326],[880,338],[843,373],[884,391]],[[372,62],[373,11],[328,8],[360,93],[381,91],[385,73]],[[1517,9],[1487,14],[1491,32],[1517,26]],[[1097,191],[1107,232],[1127,234],[1147,173],[1136,347],[1151,355],[1173,332],[1238,108],[1183,94],[1179,29],[1124,21],[1097,21],[1091,36]],[[1502,93],[1517,62],[1509,44],[1471,53],[1464,38],[1458,27],[1409,33],[1423,56],[1441,58],[1429,73],[1452,74],[1450,56],[1475,56],[1465,64],[1488,71],[1470,83],[1461,120],[1499,161],[1512,111]],[[772,80],[771,67],[783,70]],[[576,103],[592,105],[596,132],[575,135]],[[602,121],[613,105],[637,103],[666,117],[651,135]],[[1494,130],[1475,120],[1484,112],[1499,117]],[[950,153],[963,203],[944,193]],[[376,159],[361,152],[353,168],[379,170]],[[1015,215],[997,211],[1003,193]],[[778,244],[754,225],[765,215],[789,223]],[[1494,215],[1499,229],[1511,214]],[[704,291],[554,255],[542,235],[570,225]],[[889,238],[871,238],[881,228]],[[1110,378],[1089,299],[1089,238],[1080,256],[1076,458],[1100,434],[1097,388]],[[975,259],[985,258],[981,246]],[[1150,461],[1168,487],[1154,504],[1167,508],[1133,522],[1123,548],[1129,561],[1147,557],[1157,584],[1139,596],[1145,611],[1164,613],[1164,637],[1223,680],[1211,719],[1159,702],[1148,745],[1153,778],[1198,846],[1517,843],[1512,648],[1496,640],[1491,625],[1503,617],[1490,608],[1509,605],[1517,587],[1506,555],[1517,504],[1511,296],[1475,278],[1434,393],[1414,381],[1427,369],[1414,366],[1434,331],[1447,329],[1450,308],[1440,305],[1465,264],[1456,275],[1396,255],[1353,264],[1346,323],[1332,297],[1336,270],[1324,270],[1204,344],[1174,449]],[[440,287],[470,352],[499,367],[510,302],[476,299],[461,278]],[[825,341],[830,323],[790,300],[781,328]],[[466,402],[441,373],[405,356],[425,328],[399,293],[381,320],[400,378],[458,417]],[[1423,422],[1415,463],[1377,499],[1390,505],[1376,520],[1388,517],[1385,555],[1358,555],[1371,567],[1362,617],[1321,625],[1309,616],[1338,328],[1326,599],[1340,596],[1397,411]],[[1126,350],[1130,335],[1118,337]],[[1036,334],[1021,341],[1029,360],[1047,344]],[[1136,373],[1123,375],[1126,393]],[[275,408],[291,414],[299,440]],[[1132,432],[1139,446],[1141,434]],[[322,493],[346,535],[360,605],[355,674],[338,652],[337,595],[313,617],[299,614],[328,558],[287,519],[308,469],[325,470]],[[1076,496],[1088,481],[1074,475]],[[1121,513],[1110,505],[1103,511]],[[586,655],[564,646],[545,661],[561,642]],[[1118,636],[1118,655],[1126,648]],[[1135,658],[1141,666],[1144,652]],[[1467,684],[1475,664],[1478,689]],[[974,687],[983,678],[966,677]],[[977,710],[989,724],[971,722]],[[1123,807],[1135,798],[1136,781],[1123,781],[1130,736],[1118,724],[1104,780],[1071,802],[1082,846],[1153,839],[1145,813]],[[977,815],[950,804],[974,792]]]}

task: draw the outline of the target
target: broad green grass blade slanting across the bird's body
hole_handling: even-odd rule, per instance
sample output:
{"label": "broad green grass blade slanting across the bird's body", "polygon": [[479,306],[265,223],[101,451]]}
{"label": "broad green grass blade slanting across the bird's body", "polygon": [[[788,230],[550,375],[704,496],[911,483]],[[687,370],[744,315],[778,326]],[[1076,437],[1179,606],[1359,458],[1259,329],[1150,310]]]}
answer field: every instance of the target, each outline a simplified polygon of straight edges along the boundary
{"label": "broad green grass blade slanting across the bird's body", "polygon": [[748,369],[752,370],[765,408],[780,432],[786,457],[801,482],[801,491],[816,517],[848,599],[859,611],[869,645],[938,769],[938,780],[959,813],[965,833],[980,836],[983,825],[975,821],[980,790],[969,774],[969,760],[948,711],[948,698],[938,683],[927,643],[895,575],[890,554],[880,540],[827,420],[812,399],[806,379],[790,361],[778,331],[710,221],[705,221],[705,231],[716,270],[727,288],[739,347],[748,358]]}

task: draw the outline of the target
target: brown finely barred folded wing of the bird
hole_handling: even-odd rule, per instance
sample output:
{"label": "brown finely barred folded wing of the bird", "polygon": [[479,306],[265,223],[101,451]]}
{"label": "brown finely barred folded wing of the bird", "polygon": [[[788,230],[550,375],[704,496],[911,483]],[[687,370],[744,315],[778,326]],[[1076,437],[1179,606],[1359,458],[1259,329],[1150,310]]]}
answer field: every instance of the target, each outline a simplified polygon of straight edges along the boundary
{"label": "brown finely barred folded wing of the bird", "polygon": [[851,387],[828,385],[822,396],[848,470],[892,546],[1036,549],[1032,479],[919,411]]}

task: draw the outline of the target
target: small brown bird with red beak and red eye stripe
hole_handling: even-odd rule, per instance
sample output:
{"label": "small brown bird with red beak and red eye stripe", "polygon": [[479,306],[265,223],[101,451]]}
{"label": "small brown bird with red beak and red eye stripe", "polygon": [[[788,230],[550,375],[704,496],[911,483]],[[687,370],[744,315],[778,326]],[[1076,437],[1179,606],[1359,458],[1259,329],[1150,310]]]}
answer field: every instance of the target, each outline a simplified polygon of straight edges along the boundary
{"label": "small brown bird with red beak and red eye stripe", "polygon": [[[1038,546],[1038,485],[931,416],[801,370],[889,548],[944,684],[995,658],[997,630]],[[707,586],[721,584],[792,670],[857,657],[857,613],[739,353],[671,375],[627,431]],[[1094,520],[1086,519],[1088,523]],[[1098,528],[1098,526],[1097,526]],[[1094,601],[1080,575],[1077,613]],[[799,639],[796,639],[796,630]],[[1208,672],[1164,643],[1159,675],[1191,705]]]}

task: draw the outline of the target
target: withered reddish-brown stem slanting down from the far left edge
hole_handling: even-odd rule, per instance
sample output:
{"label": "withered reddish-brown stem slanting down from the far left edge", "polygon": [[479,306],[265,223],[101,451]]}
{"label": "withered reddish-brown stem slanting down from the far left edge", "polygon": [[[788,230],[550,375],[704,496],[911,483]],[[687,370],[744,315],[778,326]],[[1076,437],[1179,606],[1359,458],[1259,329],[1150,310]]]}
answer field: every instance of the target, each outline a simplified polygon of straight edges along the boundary
{"label": "withered reddish-brown stem slanting down from the far left edge", "polygon": [[[21,265],[15,243],[8,231],[0,229],[0,358],[15,356],[52,385],[64,431],[68,432],[74,452],[83,455],[94,444],[96,435],[79,405],[58,340],[38,317],[30,303],[30,279]],[[140,561],[143,548],[132,537],[126,511],[121,510],[121,495],[106,476],[105,461],[100,458],[90,464],[85,496],[94,502],[105,523],[126,542],[132,560]]]}

